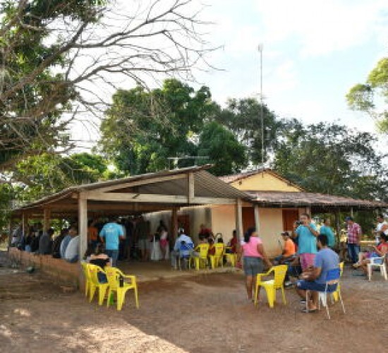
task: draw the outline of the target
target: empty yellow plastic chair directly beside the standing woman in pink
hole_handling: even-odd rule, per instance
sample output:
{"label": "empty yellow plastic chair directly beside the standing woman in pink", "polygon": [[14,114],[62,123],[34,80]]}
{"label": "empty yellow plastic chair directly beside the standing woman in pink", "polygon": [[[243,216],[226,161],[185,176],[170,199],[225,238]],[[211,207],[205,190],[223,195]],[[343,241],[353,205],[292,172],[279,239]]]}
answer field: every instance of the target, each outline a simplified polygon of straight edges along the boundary
{"label": "empty yellow plastic chair directly beside the standing woman in pink", "polygon": [[[268,276],[271,273],[274,273],[273,280],[262,281],[263,276]],[[255,288],[255,305],[257,305],[257,299],[259,294],[259,287],[264,287],[265,292],[267,293],[268,304],[271,308],[274,307],[274,302],[276,300],[276,290],[281,289],[281,295],[283,297],[283,304],[287,304],[286,296],[284,294],[284,278],[287,273],[287,265],[277,265],[269,269],[267,273],[259,273],[256,277],[256,288]]]}

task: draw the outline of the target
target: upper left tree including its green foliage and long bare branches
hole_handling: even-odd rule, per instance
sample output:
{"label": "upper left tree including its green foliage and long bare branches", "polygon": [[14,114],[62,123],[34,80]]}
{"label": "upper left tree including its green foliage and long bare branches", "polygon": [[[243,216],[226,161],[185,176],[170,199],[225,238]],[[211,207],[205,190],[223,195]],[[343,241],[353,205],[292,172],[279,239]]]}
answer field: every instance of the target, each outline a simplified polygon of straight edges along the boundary
{"label": "upper left tree including its green foliage and long bare branches", "polygon": [[[120,6],[131,2],[130,13]],[[98,124],[106,92],[145,87],[212,50],[192,0],[6,0],[0,16],[0,171],[25,156],[68,152],[82,116]],[[194,9],[194,11],[193,11]],[[114,25],[112,25],[114,23]]]}

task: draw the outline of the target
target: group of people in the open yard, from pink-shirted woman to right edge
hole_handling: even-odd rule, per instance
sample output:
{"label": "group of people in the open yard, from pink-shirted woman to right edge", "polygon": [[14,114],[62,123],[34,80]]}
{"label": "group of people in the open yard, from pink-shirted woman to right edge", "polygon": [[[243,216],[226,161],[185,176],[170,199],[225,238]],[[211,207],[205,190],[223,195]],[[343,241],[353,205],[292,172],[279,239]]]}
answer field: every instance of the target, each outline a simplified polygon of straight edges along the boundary
{"label": "group of people in the open yard, from pink-shirted woman to right edge", "polygon": [[[345,218],[347,226],[348,258],[353,263],[353,268],[363,270],[367,274],[367,266],[371,258],[384,257],[388,253],[388,224],[383,215],[377,216],[375,229],[376,246],[368,251],[360,251],[362,230],[360,225],[354,222],[353,217]],[[243,255],[243,268],[246,277],[246,290],[248,300],[253,300],[253,288],[257,274],[264,273],[264,267],[270,268],[276,264],[288,265],[285,277],[285,287],[295,285],[296,292],[301,297],[304,312],[317,311],[318,292],[325,291],[326,277],[330,270],[339,268],[339,255],[337,253],[336,239],[330,227],[330,220],[325,219],[319,231],[312,222],[310,215],[303,213],[300,220],[293,225],[293,232],[282,232],[284,244],[279,256],[270,261],[265,253],[262,240],[257,237],[255,228],[250,228],[245,233],[241,243]],[[295,277],[294,283],[290,282],[290,276]],[[329,285],[328,289],[332,289]],[[306,293],[308,297],[306,298]],[[306,299],[308,300],[306,305]]]}

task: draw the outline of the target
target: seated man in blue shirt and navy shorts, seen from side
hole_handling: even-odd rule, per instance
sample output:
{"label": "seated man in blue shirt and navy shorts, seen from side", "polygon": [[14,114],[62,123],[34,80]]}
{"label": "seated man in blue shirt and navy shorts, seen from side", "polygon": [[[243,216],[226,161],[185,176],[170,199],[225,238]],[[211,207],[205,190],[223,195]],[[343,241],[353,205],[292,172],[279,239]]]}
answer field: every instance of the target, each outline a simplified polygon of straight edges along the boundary
{"label": "seated man in blue shirt and navy shorts, seen from side", "polygon": [[[339,257],[337,253],[327,247],[326,235],[321,234],[317,237],[317,245],[320,251],[315,256],[314,266],[302,274],[303,280],[296,282],[296,292],[303,301],[306,298],[306,291],[310,292],[308,300],[309,313],[317,311],[318,292],[325,292],[327,273],[329,270],[339,268]],[[337,285],[329,285],[328,289],[332,289],[331,286]]]}

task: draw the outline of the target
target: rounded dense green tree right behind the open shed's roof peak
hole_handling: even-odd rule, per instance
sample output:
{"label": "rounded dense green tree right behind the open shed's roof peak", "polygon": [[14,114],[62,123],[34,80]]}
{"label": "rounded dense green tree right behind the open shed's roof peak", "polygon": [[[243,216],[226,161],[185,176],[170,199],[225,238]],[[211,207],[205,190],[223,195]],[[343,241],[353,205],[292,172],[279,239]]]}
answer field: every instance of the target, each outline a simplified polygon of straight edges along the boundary
{"label": "rounded dense green tree right behind the open shed's roof peak", "polygon": [[209,157],[214,164],[210,172],[217,176],[241,172],[247,165],[246,148],[224,126],[212,121],[200,134],[198,154]]}

